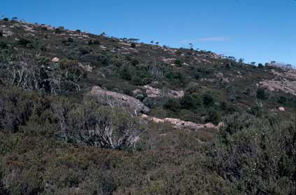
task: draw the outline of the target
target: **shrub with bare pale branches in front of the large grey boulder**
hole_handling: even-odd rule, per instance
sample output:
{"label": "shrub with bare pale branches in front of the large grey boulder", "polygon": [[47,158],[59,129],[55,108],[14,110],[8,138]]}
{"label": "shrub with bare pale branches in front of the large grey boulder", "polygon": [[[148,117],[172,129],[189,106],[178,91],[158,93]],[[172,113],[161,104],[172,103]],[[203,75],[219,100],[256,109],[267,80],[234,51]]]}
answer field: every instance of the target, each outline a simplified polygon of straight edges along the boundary
{"label": "shrub with bare pale branches in front of the large grey boulder", "polygon": [[143,130],[139,120],[123,109],[99,107],[91,100],[68,105],[55,107],[61,123],[59,137],[66,142],[122,149],[133,146]]}

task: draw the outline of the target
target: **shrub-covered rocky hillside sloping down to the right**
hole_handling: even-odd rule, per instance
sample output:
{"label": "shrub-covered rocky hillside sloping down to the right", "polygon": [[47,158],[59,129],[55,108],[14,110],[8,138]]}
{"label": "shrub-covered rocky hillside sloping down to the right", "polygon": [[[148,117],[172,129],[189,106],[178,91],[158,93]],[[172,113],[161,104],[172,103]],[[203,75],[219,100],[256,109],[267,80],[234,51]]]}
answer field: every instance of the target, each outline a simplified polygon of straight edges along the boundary
{"label": "shrub-covered rocky hillside sloping down to the right", "polygon": [[293,69],[1,20],[0,86],[0,194],[295,193]]}

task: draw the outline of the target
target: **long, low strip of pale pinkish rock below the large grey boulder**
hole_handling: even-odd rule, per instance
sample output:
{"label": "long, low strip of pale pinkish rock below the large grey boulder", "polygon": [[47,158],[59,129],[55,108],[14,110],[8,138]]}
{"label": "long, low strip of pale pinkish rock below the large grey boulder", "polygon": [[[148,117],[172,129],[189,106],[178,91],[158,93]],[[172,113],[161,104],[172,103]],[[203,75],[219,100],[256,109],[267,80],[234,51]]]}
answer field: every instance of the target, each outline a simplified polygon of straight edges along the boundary
{"label": "long, low strip of pale pinkish rock below the large grey boulder", "polygon": [[165,119],[157,119],[155,117],[148,116],[146,114],[142,114],[141,117],[143,119],[149,119],[153,121],[154,123],[164,123],[168,122],[173,124],[175,128],[189,128],[191,130],[198,130],[201,128],[222,128],[224,126],[224,123],[219,123],[218,126],[214,126],[213,123],[206,123],[206,124],[199,124],[199,123],[193,123],[190,121],[182,121],[181,119],[173,119],[173,118],[165,118]]}

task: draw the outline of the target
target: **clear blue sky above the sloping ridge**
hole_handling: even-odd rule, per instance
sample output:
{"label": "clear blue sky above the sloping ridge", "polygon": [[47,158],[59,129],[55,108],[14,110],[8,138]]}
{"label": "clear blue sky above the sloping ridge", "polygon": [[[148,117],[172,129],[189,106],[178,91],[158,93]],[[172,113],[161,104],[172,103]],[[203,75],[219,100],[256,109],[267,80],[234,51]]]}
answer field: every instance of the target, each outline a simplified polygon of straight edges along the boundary
{"label": "clear blue sky above the sloping ridge", "polygon": [[1,0],[1,15],[296,65],[295,0]]}

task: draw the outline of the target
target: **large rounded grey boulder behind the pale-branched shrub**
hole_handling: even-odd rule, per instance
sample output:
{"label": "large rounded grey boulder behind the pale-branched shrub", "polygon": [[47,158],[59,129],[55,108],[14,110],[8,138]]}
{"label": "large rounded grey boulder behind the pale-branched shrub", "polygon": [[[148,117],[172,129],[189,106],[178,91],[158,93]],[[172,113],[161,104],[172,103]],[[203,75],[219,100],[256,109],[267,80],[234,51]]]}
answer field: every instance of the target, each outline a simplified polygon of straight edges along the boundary
{"label": "large rounded grey boulder behind the pale-branched shrub", "polygon": [[103,105],[111,105],[112,107],[128,107],[133,109],[136,114],[148,113],[150,110],[143,105],[140,100],[129,95],[116,93],[110,90],[103,90],[99,86],[92,87],[90,95],[94,95]]}

